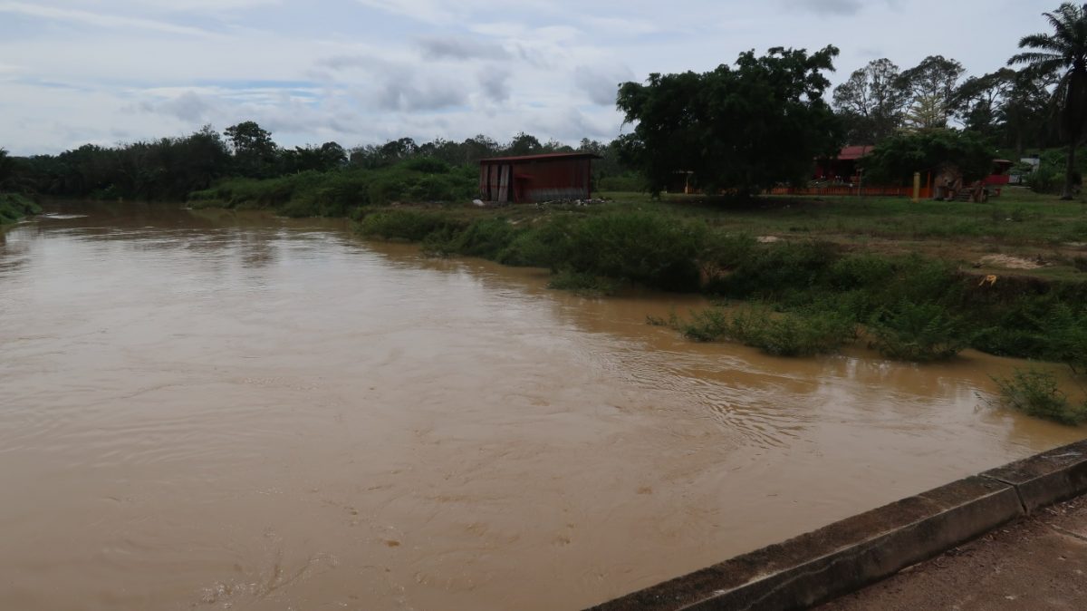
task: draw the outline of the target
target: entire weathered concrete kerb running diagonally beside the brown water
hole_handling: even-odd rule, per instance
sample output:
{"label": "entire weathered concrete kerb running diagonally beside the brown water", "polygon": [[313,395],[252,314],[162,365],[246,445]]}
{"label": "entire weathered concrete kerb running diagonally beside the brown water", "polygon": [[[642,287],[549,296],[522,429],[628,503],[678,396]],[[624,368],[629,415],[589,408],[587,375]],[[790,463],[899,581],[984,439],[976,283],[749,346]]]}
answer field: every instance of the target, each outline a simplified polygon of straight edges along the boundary
{"label": "entire weathered concrete kerb running diagonally beside the brown water", "polygon": [[1087,492],[1087,441],[909,497],[594,611],[805,609]]}

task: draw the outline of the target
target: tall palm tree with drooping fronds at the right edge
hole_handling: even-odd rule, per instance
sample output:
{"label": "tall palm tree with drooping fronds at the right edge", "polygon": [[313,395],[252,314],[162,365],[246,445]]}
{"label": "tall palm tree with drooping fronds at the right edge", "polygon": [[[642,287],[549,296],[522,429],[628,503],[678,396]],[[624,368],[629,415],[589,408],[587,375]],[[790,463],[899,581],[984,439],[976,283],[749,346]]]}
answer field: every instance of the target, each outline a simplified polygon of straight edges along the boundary
{"label": "tall palm tree with drooping fronds at the right edge", "polygon": [[1008,65],[1029,64],[1042,74],[1064,71],[1053,91],[1053,100],[1059,104],[1061,127],[1069,140],[1061,199],[1072,199],[1076,146],[1087,123],[1087,4],[1065,2],[1052,13],[1042,13],[1042,16],[1052,26],[1052,34],[1024,36],[1020,40],[1020,49],[1035,50],[1014,55],[1008,60]]}

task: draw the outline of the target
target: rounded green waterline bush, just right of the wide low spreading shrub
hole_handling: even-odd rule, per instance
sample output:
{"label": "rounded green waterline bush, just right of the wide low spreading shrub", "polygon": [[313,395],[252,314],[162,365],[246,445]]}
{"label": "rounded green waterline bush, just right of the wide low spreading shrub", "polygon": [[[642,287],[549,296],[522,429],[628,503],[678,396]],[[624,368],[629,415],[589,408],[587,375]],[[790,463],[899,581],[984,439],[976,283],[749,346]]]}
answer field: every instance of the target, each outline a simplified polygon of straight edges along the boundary
{"label": "rounded green waterline bush, just right of the wide low spreading shrub", "polygon": [[869,329],[874,335],[873,348],[902,361],[949,359],[971,339],[962,320],[935,302],[900,301],[873,316]]}

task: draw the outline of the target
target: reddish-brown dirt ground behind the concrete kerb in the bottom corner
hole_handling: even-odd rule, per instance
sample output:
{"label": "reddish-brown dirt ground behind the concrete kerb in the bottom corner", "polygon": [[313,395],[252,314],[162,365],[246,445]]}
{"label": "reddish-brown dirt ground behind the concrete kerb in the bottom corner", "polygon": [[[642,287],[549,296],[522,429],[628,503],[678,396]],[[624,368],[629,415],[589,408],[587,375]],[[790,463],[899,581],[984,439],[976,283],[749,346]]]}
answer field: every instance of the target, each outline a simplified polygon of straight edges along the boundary
{"label": "reddish-brown dirt ground behind the concrete kerb in the bottom corner", "polygon": [[1087,496],[816,609],[1083,611],[1087,609]]}

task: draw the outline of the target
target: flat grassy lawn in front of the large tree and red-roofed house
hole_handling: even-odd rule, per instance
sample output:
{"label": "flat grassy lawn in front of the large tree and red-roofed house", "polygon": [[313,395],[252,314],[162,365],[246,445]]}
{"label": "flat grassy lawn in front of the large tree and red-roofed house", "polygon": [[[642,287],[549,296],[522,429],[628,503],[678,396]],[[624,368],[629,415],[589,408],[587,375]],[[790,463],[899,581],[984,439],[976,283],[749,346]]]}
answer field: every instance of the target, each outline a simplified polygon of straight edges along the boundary
{"label": "flat grassy lawn in front of the large tree and red-roofed house", "polygon": [[[766,241],[820,239],[851,250],[917,252],[978,273],[1087,279],[1087,202],[1005,188],[986,203],[891,197],[773,197],[748,203],[699,196],[605,192],[602,209],[703,219]],[[514,207],[523,208],[523,207]],[[530,209],[525,210],[529,212]]]}

